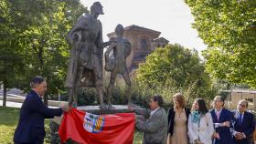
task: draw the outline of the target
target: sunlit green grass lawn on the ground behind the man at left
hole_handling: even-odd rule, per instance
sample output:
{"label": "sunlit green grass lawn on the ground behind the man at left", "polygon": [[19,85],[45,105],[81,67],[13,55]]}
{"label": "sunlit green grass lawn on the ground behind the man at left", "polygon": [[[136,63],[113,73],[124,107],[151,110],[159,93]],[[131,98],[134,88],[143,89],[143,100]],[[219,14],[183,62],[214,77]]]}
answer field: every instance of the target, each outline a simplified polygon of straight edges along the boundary
{"label": "sunlit green grass lawn on the ground behind the man at left", "polygon": [[[0,144],[12,144],[14,132],[19,118],[19,108],[5,108],[0,106]],[[49,120],[46,120],[48,125]],[[135,131],[133,144],[141,144],[142,132]]]}

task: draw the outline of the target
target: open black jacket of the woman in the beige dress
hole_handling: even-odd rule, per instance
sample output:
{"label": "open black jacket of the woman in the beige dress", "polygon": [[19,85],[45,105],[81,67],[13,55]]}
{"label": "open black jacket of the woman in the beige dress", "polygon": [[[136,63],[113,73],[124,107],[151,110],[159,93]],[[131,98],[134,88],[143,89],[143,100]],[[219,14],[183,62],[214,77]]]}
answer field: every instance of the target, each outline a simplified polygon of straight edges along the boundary
{"label": "open black jacket of the woman in the beige dress", "polygon": [[[190,109],[189,108],[185,108],[185,112],[186,112],[186,116],[187,116],[187,120],[188,120],[188,116],[190,114]],[[175,120],[175,116],[176,116],[176,112],[174,110],[174,108],[169,108],[168,109],[168,133],[170,133],[171,136],[173,136],[174,133],[174,120]]]}

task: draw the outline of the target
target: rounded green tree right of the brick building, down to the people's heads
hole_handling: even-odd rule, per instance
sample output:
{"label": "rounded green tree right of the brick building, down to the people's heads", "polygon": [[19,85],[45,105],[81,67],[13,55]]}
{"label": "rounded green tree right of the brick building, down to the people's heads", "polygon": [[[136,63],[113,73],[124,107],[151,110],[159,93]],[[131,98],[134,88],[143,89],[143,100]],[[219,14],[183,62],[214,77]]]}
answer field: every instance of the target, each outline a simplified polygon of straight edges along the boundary
{"label": "rounded green tree right of the brick building, down to the people's heads", "polygon": [[[204,63],[197,51],[177,44],[157,48],[147,56],[145,63],[136,71],[136,79],[150,88],[186,89],[188,97],[192,98],[209,97],[207,93],[211,87],[210,78],[205,73]],[[194,96],[191,96],[192,93]]]}

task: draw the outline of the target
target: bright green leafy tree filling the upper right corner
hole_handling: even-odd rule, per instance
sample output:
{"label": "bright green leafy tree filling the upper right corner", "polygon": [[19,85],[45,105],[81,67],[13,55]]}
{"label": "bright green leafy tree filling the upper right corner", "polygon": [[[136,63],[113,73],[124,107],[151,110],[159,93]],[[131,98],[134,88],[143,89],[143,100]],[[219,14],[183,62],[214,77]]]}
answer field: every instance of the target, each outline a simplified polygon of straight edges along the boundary
{"label": "bright green leafy tree filling the upper right corner", "polygon": [[206,69],[231,83],[256,87],[256,1],[186,0],[193,27],[208,45]]}

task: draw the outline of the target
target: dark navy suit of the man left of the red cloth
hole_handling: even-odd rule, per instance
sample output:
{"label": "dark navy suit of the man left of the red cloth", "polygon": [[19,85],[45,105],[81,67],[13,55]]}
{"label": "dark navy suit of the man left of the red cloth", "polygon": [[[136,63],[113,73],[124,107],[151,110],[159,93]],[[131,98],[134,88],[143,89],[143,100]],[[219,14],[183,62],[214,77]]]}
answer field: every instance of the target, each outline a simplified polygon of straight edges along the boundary
{"label": "dark navy suit of the man left of the red cloth", "polygon": [[34,90],[31,90],[20,109],[15,143],[41,144],[45,138],[44,119],[61,116],[61,108],[47,108]]}

